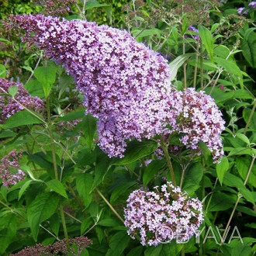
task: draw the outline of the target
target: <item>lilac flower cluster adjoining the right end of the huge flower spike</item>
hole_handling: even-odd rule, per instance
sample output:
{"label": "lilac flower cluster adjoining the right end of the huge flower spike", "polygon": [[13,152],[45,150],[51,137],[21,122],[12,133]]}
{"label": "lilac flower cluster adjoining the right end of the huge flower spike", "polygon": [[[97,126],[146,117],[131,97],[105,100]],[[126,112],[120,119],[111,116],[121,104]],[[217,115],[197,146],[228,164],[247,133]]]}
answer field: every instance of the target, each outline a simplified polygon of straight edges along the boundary
{"label": "lilac flower cluster adjoining the right end of the huge flower spike", "polygon": [[197,154],[201,154],[199,141],[205,143],[213,155],[213,161],[218,162],[223,157],[220,134],[225,129],[221,116],[213,98],[205,92],[195,92],[194,88],[188,88],[183,92],[182,114],[175,130],[184,134],[182,144]]}

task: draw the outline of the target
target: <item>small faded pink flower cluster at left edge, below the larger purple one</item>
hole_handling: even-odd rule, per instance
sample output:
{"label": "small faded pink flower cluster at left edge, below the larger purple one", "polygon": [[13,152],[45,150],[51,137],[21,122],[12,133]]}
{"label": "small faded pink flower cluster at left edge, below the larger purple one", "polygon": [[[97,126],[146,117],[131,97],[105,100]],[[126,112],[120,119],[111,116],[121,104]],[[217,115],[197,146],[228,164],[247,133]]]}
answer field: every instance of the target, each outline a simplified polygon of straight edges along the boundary
{"label": "small faded pink flower cluster at left edge, below the larger purple one", "polygon": [[2,157],[0,161],[0,178],[5,187],[15,185],[25,177],[25,173],[19,169],[21,156],[22,151],[16,152],[16,150],[12,150],[5,157]]}

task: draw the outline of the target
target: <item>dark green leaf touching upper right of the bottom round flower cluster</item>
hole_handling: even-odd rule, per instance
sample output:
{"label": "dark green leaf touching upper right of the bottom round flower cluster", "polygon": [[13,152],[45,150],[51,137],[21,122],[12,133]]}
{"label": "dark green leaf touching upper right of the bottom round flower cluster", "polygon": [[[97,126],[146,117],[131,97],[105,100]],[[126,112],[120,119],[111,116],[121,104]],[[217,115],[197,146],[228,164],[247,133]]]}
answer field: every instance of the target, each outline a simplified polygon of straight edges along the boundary
{"label": "dark green leaf touching upper right of the bottom round flower cluster", "polygon": [[185,171],[184,183],[182,189],[192,195],[200,187],[202,180],[203,168],[202,164],[197,162]]}

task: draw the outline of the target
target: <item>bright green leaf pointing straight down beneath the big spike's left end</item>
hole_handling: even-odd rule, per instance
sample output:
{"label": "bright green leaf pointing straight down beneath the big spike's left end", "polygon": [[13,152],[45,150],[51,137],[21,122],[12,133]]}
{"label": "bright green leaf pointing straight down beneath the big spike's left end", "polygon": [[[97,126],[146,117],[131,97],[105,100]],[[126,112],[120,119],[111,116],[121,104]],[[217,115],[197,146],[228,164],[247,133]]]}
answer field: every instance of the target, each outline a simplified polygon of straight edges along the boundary
{"label": "bright green leaf pointing straight down beneath the big spike's left end", "polygon": [[37,67],[34,71],[35,78],[43,85],[43,92],[45,98],[50,94],[52,85],[56,80],[57,67]]}

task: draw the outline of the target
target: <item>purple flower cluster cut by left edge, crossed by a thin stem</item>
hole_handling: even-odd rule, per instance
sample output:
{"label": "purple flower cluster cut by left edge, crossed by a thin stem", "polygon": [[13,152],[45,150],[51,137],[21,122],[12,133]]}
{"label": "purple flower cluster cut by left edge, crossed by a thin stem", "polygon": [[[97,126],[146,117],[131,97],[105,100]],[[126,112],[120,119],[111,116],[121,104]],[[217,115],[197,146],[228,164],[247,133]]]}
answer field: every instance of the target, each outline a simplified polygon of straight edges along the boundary
{"label": "purple flower cluster cut by left edge, crossed by a thin stem", "polygon": [[16,112],[23,110],[24,107],[36,112],[43,109],[42,99],[29,95],[29,92],[23,88],[22,84],[0,78],[1,93],[8,93],[8,89],[12,86],[18,87],[18,92],[14,97],[16,101],[9,96],[0,95],[0,123],[5,123],[6,119],[14,115]]}

